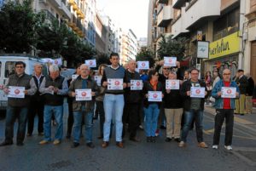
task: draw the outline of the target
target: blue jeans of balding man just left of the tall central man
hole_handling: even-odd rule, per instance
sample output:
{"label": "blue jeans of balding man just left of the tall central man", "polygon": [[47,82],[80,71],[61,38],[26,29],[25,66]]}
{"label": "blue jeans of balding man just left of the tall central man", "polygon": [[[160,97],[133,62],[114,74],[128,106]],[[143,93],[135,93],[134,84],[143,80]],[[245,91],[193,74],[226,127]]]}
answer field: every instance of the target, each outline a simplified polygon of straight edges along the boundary
{"label": "blue jeans of balding man just left of the tall central man", "polygon": [[92,142],[93,111],[85,111],[85,106],[80,111],[73,111],[73,141],[79,143],[83,117],[86,143],[90,143]]}

